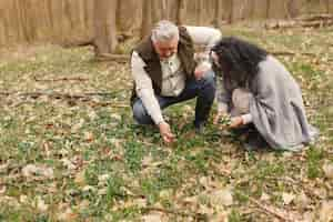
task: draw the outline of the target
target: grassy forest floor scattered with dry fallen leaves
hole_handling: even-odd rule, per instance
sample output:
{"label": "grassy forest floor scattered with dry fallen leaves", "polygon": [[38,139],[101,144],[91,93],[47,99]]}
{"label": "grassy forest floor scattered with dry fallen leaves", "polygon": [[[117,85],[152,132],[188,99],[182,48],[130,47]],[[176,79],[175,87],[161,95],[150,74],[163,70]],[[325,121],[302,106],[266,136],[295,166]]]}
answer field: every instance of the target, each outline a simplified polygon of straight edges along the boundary
{"label": "grassy forest floor scattered with dry fallen leaves", "polygon": [[132,119],[128,63],[94,62],[91,48],[2,51],[0,221],[333,220],[333,29],[223,34],[280,54],[315,144],[248,152],[212,124],[196,135],[190,101],[165,110],[176,132],[165,145]]}

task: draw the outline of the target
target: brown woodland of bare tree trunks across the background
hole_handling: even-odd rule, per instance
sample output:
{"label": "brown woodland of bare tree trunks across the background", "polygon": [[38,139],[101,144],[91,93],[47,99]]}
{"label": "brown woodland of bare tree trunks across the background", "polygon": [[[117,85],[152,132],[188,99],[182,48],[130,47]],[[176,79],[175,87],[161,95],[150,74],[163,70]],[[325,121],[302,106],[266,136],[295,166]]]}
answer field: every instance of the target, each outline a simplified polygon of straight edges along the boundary
{"label": "brown woodland of bare tree trunks across the background", "polygon": [[160,19],[220,26],[306,13],[332,14],[333,0],[0,0],[0,47],[92,43],[97,53],[114,53],[117,37],[150,34]]}

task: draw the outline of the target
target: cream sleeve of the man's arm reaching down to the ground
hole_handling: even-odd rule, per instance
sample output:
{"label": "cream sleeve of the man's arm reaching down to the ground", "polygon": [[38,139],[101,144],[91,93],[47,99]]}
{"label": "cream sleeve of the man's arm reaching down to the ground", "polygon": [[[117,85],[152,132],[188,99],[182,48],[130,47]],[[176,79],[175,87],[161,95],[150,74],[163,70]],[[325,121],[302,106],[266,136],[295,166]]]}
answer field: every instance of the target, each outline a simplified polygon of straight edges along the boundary
{"label": "cream sleeve of the man's arm reaching down to the ground", "polygon": [[144,61],[140,58],[138,52],[133,51],[131,58],[131,72],[135,82],[135,91],[141,99],[148,114],[152,118],[155,124],[163,122],[162,111],[158,99],[154,95],[152,81],[145,70]]}

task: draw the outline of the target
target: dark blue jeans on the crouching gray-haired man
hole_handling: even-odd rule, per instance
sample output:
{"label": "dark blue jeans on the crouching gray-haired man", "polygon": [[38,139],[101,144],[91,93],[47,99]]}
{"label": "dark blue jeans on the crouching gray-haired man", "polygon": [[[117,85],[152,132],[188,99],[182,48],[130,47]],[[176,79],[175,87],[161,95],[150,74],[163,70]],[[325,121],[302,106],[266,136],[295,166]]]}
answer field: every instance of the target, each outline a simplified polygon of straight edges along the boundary
{"label": "dark blue jeans on the crouching gray-haired man", "polygon": [[[160,97],[155,95],[161,109],[171,104],[183,102],[196,98],[194,125],[199,127],[204,123],[211,111],[215,98],[215,75],[213,71],[209,71],[201,80],[191,78],[186,81],[185,89],[178,97]],[[142,101],[137,99],[133,107],[133,117],[140,124],[153,124],[151,117],[148,114]]]}

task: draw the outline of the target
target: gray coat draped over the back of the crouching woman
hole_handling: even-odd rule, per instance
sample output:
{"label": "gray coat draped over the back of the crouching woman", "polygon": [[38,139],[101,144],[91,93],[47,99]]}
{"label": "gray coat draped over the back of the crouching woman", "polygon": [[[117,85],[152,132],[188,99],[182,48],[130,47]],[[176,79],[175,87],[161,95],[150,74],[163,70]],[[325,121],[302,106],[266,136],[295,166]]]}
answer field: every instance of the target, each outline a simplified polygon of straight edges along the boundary
{"label": "gray coat draped over the back of the crouching woman", "polygon": [[253,123],[272,148],[297,151],[319,134],[307,123],[299,84],[272,56],[259,63],[250,91]]}

